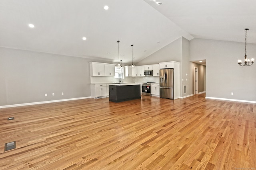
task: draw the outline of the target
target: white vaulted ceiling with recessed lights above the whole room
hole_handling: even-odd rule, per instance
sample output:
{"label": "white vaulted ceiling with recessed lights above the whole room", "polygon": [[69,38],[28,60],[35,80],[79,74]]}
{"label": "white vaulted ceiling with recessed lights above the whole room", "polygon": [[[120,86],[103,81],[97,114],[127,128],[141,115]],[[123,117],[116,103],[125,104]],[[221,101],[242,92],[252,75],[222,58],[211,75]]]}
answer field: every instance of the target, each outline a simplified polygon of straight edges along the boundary
{"label": "white vaulted ceiling with recessed lights above the whole room", "polygon": [[136,63],[181,36],[244,42],[249,28],[256,43],[255,0],[159,2],[0,0],[0,46],[118,62],[120,40],[120,60],[132,62],[133,44]]}

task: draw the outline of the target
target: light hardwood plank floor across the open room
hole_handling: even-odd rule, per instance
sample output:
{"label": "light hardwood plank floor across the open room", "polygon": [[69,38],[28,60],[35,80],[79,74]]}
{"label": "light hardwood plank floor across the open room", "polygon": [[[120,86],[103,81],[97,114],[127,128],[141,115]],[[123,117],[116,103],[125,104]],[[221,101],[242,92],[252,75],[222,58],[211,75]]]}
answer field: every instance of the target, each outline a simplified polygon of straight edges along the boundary
{"label": "light hardwood plank floor across the open room", "polygon": [[204,94],[2,108],[0,126],[0,169],[256,169],[256,104]]}

